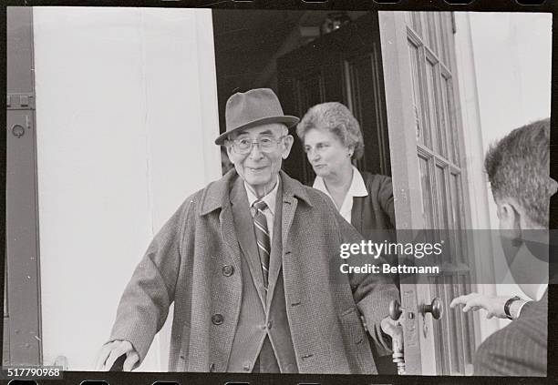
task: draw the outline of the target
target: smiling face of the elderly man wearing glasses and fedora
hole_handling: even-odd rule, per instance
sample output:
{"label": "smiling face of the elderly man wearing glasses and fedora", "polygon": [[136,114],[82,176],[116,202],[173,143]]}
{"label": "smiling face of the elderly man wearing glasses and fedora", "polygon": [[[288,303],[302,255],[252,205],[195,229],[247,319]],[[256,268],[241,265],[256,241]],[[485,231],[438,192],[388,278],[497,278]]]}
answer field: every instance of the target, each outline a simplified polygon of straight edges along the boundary
{"label": "smiling face of the elderly man wearing glasses and fedora", "polygon": [[[243,154],[239,148],[241,142],[253,142],[252,148]],[[262,145],[256,145],[254,142]],[[263,148],[264,144],[271,149]],[[281,162],[288,157],[293,146],[293,137],[284,137],[284,126],[268,124],[247,128],[233,137],[233,142],[227,144],[227,153],[240,177],[253,188],[256,196],[263,197],[271,189],[281,169]]]}

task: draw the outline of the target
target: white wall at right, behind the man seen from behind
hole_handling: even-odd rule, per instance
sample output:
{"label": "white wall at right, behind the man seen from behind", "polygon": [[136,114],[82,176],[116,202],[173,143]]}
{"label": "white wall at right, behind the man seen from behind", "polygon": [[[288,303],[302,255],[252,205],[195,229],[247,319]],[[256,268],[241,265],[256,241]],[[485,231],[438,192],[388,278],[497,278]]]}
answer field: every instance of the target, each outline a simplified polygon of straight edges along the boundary
{"label": "white wall at right, behind the man seen from behind", "polygon": [[[483,152],[512,129],[550,117],[552,15],[470,13]],[[490,186],[491,228],[498,228]],[[503,260],[499,242],[494,258]],[[512,282],[512,279],[510,280]],[[522,294],[515,284],[496,288],[500,296]],[[508,320],[501,320],[501,326]],[[485,336],[486,337],[486,336]]]}

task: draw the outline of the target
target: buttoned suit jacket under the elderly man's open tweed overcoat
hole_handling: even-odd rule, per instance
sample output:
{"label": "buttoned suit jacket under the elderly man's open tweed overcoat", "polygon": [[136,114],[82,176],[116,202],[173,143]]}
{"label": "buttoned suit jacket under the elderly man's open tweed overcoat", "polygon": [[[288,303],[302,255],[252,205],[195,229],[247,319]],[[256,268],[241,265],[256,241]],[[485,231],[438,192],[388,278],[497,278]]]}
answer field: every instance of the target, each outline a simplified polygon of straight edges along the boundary
{"label": "buttoned suit jacket under the elderly man's open tweed overcoat", "polygon": [[[260,254],[256,245],[253,217],[243,179],[238,177],[231,189],[234,228],[243,258],[243,296],[233,347],[226,371],[296,373],[296,358],[284,301],[282,267],[281,213],[283,186],[279,183],[275,198],[274,231],[269,263],[269,286],[263,285]],[[265,326],[263,326],[265,325]],[[269,325],[269,327],[267,326]],[[256,326],[256,327],[254,327]],[[259,357],[258,364],[254,364]]]}

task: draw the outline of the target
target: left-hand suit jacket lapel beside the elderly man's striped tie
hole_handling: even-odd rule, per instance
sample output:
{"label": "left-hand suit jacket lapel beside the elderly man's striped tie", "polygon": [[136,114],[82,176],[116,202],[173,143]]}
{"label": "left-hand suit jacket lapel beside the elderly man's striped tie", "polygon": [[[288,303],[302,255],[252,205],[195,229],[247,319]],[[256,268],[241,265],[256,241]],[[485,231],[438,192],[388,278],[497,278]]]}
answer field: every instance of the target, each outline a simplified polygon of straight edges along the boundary
{"label": "left-hand suit jacket lapel beside the elderly man's striped tie", "polygon": [[248,207],[248,197],[243,186],[243,179],[240,177],[236,179],[231,190],[231,205],[238,243],[243,250],[244,258],[248,262],[254,286],[258,292],[258,297],[262,301],[262,307],[265,309],[265,289],[263,289],[262,267],[253,232],[253,218]]}

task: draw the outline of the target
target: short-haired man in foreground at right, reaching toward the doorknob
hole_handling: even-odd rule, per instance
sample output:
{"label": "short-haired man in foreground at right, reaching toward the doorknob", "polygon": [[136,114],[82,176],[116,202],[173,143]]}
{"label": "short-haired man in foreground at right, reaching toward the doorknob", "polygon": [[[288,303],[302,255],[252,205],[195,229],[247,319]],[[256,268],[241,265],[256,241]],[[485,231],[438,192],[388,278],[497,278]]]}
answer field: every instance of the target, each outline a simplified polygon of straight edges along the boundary
{"label": "short-haired man in foreground at right, reaching toward the doorknob", "polygon": [[513,319],[480,345],[475,375],[546,376],[548,213],[556,191],[549,159],[549,119],[511,131],[486,156],[504,255],[512,276],[532,300],[471,293],[451,302],[450,307],[465,304],[463,311],[486,309],[488,318]]}

